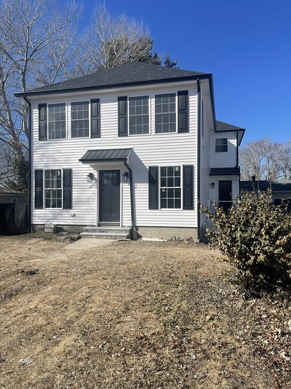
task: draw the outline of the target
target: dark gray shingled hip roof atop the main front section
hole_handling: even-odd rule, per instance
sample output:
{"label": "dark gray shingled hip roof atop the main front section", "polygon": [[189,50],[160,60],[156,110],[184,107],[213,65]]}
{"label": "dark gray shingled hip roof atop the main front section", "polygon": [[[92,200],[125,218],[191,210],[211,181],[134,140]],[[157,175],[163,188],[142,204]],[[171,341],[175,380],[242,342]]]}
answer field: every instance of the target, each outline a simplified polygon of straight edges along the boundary
{"label": "dark gray shingled hip roof atop the main front section", "polygon": [[47,85],[41,88],[32,89],[23,94],[32,94],[37,92],[60,92],[70,89],[86,88],[109,88],[113,86],[122,86],[124,84],[150,84],[161,81],[171,81],[175,79],[193,79],[200,75],[207,75],[192,70],[175,69],[159,65],[151,65],[142,62],[126,63],[111,69],[105,69],[76,79],[63,81],[57,84]]}

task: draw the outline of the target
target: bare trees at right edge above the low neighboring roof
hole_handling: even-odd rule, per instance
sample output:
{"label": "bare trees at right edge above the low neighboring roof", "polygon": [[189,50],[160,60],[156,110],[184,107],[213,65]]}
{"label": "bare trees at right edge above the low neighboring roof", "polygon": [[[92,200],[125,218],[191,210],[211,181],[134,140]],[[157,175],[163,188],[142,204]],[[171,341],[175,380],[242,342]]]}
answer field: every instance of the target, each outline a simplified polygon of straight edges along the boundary
{"label": "bare trees at right edge above the low neighboring roof", "polygon": [[239,151],[241,178],[251,180],[290,179],[291,141],[272,142],[263,138],[249,142]]}

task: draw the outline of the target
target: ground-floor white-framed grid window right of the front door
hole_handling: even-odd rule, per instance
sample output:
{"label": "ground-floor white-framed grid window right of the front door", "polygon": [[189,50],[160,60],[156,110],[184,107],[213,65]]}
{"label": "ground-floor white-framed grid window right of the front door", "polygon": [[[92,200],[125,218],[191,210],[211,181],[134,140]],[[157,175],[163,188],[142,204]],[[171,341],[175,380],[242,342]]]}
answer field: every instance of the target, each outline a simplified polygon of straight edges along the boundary
{"label": "ground-floor white-framed grid window right of the front door", "polygon": [[161,167],[161,209],[181,208],[181,167]]}

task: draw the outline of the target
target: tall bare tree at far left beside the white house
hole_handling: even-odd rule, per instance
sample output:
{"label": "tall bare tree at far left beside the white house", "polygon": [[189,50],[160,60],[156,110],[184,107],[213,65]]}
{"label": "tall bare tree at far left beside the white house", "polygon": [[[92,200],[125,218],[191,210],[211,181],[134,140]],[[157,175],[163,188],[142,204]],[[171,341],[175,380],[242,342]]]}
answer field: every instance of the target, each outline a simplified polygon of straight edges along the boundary
{"label": "tall bare tree at far left beside the white house", "polygon": [[[10,148],[7,179],[26,190],[28,106],[16,91],[60,81],[70,74],[74,49],[71,34],[80,15],[74,3],[54,0],[2,0],[0,8],[0,145]],[[8,155],[8,154],[7,154]]]}

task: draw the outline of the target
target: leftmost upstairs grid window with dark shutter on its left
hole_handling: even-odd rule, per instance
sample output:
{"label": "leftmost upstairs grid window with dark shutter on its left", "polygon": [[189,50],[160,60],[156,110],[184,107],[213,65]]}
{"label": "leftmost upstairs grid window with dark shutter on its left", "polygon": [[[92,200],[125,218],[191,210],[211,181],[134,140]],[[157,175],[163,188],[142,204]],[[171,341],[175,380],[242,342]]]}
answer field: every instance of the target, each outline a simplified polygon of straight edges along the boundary
{"label": "leftmost upstairs grid window with dark shutter on its left", "polygon": [[49,139],[66,138],[66,104],[49,104]]}

